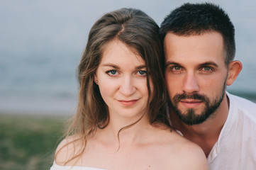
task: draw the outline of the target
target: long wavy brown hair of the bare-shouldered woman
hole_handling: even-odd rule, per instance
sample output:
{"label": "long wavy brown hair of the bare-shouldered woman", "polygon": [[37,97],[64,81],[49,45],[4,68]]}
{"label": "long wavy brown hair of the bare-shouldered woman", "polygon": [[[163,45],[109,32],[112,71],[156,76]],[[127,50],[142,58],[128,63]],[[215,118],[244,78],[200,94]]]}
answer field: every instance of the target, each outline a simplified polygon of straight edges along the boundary
{"label": "long wavy brown hair of the bare-shouldered woman", "polygon": [[[80,152],[73,155],[72,159],[84,152],[87,139],[97,128],[105,128],[108,125],[108,106],[101,97],[99,86],[94,83],[94,74],[101,62],[104,48],[113,39],[120,40],[136,50],[145,61],[149,73],[147,74],[148,94],[151,98],[148,99],[149,123],[160,121],[168,125],[164,106],[165,59],[158,32],[157,23],[143,11],[135,8],[121,8],[106,13],[91,27],[87,46],[77,68],[79,81],[77,113],[67,132],[67,135],[78,135],[76,140],[83,142],[83,148],[79,149]],[[149,77],[154,86],[153,94],[150,94]]]}

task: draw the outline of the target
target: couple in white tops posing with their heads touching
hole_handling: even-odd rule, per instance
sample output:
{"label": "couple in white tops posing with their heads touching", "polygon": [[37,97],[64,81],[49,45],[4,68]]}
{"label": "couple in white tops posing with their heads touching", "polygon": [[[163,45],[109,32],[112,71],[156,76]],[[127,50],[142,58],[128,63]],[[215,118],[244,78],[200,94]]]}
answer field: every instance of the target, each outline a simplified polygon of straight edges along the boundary
{"label": "couple in white tops posing with their heads touching", "polygon": [[254,169],[256,105],[226,92],[242,69],[234,31],[207,3],[176,8],[160,29],[133,8],[102,16],[51,169]]}

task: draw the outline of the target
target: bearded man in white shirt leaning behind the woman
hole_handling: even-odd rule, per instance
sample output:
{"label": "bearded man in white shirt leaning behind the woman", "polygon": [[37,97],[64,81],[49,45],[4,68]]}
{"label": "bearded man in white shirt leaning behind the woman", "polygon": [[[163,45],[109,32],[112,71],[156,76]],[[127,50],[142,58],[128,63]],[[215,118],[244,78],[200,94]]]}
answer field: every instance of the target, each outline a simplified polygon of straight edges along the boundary
{"label": "bearded man in white shirt leaning behind the woman", "polygon": [[226,92],[242,69],[228,15],[184,4],[160,35],[172,127],[204,149],[210,169],[256,169],[256,104]]}

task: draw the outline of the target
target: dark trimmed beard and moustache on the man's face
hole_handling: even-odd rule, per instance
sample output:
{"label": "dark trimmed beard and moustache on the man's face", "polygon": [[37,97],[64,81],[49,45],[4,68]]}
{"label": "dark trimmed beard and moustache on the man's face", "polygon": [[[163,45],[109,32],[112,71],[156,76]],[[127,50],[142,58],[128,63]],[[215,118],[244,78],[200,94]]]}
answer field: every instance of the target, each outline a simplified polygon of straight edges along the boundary
{"label": "dark trimmed beard and moustache on the man's face", "polygon": [[[210,99],[201,94],[177,94],[175,95],[171,101],[169,101],[169,106],[171,109],[174,109],[174,112],[177,114],[180,120],[182,120],[183,123],[187,125],[198,125],[200,123],[203,123],[210,115],[215,113],[217,108],[221,105],[221,102],[223,101],[224,94],[226,93],[226,86],[224,85],[221,96],[218,96],[213,103],[210,103]],[[187,113],[183,113],[179,110],[177,103],[182,99],[196,99],[203,101],[206,105],[204,108],[204,111],[196,115],[193,108],[189,108],[187,110]]]}

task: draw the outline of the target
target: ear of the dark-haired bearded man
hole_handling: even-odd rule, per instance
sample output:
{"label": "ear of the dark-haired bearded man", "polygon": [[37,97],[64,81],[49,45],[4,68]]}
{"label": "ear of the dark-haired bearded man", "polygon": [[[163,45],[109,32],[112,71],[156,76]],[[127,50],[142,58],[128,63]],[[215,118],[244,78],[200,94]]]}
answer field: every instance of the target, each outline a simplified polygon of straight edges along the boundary
{"label": "ear of the dark-haired bearded man", "polygon": [[228,78],[226,81],[226,85],[230,86],[235,81],[236,77],[238,77],[238,74],[242,70],[243,65],[240,61],[235,60],[233,62],[230,62],[228,65]]}

